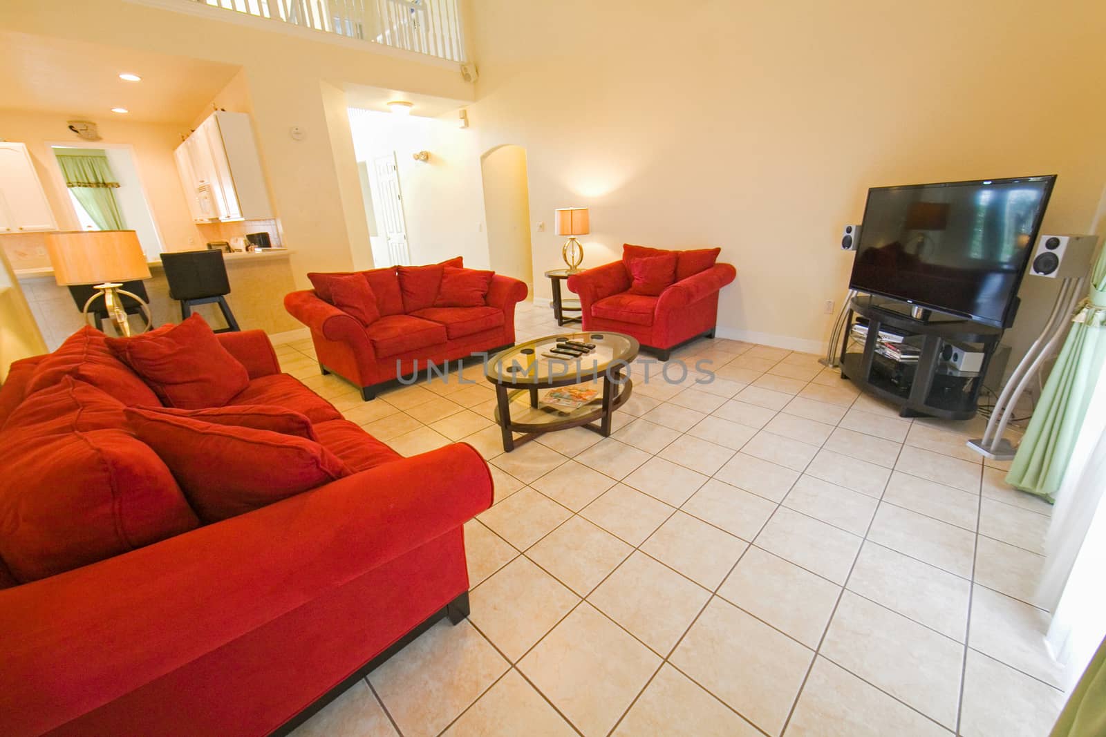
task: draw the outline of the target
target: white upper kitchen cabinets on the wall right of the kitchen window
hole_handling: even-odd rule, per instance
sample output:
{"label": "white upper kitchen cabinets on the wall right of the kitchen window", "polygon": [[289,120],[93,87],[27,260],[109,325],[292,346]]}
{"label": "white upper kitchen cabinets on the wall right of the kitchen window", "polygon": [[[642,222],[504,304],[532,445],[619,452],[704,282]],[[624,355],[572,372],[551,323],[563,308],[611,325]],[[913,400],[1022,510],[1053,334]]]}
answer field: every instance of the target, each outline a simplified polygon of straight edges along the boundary
{"label": "white upper kitchen cabinets on the wall right of the kitchen window", "polygon": [[177,148],[177,168],[197,222],[273,217],[246,113],[217,110]]}

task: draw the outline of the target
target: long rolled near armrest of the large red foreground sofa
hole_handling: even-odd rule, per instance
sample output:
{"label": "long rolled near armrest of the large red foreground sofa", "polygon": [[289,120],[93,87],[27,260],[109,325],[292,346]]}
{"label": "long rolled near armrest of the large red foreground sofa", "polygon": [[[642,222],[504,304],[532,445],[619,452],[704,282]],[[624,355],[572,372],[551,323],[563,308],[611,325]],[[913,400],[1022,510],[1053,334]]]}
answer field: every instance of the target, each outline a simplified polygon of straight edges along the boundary
{"label": "long rolled near armrest of the large red foreground sofa", "polygon": [[488,465],[455,443],[0,590],[0,734],[65,724],[456,529],[491,501]]}

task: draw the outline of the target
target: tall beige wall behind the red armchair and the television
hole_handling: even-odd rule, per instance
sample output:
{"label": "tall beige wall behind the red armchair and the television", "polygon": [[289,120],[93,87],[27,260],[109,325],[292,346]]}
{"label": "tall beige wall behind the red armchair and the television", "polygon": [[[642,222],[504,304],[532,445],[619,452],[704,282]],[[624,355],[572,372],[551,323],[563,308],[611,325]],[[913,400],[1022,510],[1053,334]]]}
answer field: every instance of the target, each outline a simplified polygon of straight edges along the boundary
{"label": "tall beige wall behind the red armchair and the television", "polygon": [[[585,265],[627,241],[721,246],[734,334],[821,346],[868,187],[1058,173],[1045,228],[1086,232],[1106,180],[1104,3],[482,0],[473,17],[469,117],[484,148],[525,147],[532,221],[591,207]],[[532,236],[534,273],[555,267],[561,239]],[[1034,304],[1052,288],[1026,284]]]}

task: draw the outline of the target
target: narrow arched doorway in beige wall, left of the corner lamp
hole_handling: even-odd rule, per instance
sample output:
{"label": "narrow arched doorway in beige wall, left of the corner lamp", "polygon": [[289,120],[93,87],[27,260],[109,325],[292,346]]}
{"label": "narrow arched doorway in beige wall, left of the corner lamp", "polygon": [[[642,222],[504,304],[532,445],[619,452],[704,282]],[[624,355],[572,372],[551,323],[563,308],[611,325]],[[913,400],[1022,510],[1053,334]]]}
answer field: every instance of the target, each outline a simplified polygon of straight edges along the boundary
{"label": "narrow arched doorway in beige wall, left of the corner lamp", "polygon": [[533,293],[526,149],[505,144],[486,151],[480,157],[480,173],[488,263],[497,273],[522,280]]}

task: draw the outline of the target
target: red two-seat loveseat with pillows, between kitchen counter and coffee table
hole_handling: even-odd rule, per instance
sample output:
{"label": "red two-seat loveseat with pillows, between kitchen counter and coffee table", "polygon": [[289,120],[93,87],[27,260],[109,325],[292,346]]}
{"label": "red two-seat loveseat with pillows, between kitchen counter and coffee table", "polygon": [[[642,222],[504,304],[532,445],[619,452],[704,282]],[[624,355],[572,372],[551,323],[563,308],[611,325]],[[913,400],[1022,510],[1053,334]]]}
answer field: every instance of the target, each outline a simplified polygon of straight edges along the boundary
{"label": "red two-seat loveseat with pillows, between kitchen counter and coffee table", "polygon": [[[363,277],[368,289],[343,302],[333,292],[335,282],[353,274]],[[450,275],[481,274],[487,283],[482,293],[442,298]],[[336,373],[358,387],[366,401],[383,385],[426,370],[430,362],[513,346],[514,305],[526,298],[525,282],[463,269],[460,257],[429,266],[309,276],[315,288],[286,295],[284,307],[311,328],[323,373]]]}

